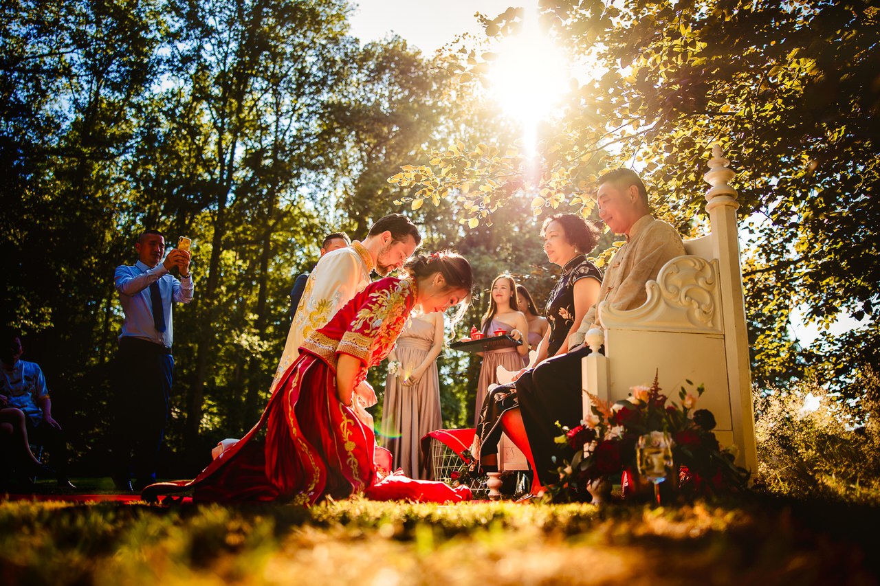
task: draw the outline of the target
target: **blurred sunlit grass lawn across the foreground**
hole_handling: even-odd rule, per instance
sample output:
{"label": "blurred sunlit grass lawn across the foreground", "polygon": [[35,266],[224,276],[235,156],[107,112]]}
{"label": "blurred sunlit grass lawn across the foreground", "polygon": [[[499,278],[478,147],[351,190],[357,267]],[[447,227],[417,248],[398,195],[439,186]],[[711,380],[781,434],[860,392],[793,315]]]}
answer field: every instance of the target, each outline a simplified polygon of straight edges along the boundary
{"label": "blurred sunlit grass lawn across the foreground", "polygon": [[873,584],[878,522],[766,495],[664,509],[0,501],[0,583]]}

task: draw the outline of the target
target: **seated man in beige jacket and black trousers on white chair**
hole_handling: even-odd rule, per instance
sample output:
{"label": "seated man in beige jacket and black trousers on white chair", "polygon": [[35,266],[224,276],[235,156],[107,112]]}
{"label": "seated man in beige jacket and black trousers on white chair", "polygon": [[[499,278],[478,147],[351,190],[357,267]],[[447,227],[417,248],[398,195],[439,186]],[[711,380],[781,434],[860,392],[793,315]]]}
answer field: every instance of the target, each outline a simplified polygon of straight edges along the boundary
{"label": "seated man in beige jacket and black trousers on white chair", "polygon": [[571,349],[517,378],[514,385],[518,417],[511,412],[501,421],[510,439],[527,456],[532,456],[539,480],[539,485],[532,485],[533,494],[557,480],[555,470],[562,460],[574,456],[565,446],[554,443],[554,437],[560,433],[557,421],[573,428],[582,417],[581,359],[590,353],[590,348],[581,344],[584,333],[598,322],[598,304],[607,301],[616,310],[639,307],[648,298],[645,283],[655,279],[666,262],[685,254],[678,231],[651,216],[648,192],[634,172],[615,169],[603,174],[599,178],[597,204],[602,221],[627,241],[614,253],[598,299],[583,317],[581,326],[569,336]]}

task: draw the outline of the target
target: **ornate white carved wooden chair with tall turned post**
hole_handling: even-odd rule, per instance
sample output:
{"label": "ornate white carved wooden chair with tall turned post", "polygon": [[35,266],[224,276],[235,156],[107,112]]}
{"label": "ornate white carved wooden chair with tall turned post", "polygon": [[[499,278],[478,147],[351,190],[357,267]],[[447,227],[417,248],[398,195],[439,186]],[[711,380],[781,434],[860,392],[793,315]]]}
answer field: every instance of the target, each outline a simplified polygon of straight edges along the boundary
{"label": "ornate white carved wooden chair with tall turned post", "polygon": [[[687,255],[667,262],[649,281],[648,300],[630,311],[599,304],[601,330],[590,330],[583,358],[583,408],[590,398],[626,399],[630,387],[658,383],[671,397],[690,380],[705,385],[697,407],[715,414],[715,436],[737,446],[737,464],[758,470],[752,376],[737,240],[735,173],[715,145],[704,176],[711,233],[685,241]],[[598,350],[605,345],[605,355]],[[689,389],[693,390],[693,389]]]}

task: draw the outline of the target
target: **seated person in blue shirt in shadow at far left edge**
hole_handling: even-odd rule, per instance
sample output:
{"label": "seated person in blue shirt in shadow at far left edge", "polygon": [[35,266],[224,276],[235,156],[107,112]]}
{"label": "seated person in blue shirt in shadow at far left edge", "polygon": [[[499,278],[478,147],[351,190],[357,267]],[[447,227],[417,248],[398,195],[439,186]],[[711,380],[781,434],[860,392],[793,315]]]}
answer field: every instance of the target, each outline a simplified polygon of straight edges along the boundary
{"label": "seated person in blue shirt in shadow at far left edge", "polygon": [[[52,455],[56,480],[60,487],[73,487],[67,478],[67,442],[61,425],[52,417],[52,401],[46,389],[46,378],[36,363],[20,360],[24,349],[21,338],[14,331],[4,332],[0,340],[0,412],[2,428],[11,432],[18,445],[25,472],[48,474],[52,470],[33,458],[28,440],[42,443]],[[21,415],[14,413],[20,411]],[[21,429],[21,420],[25,428]],[[22,446],[22,443],[24,444]]]}

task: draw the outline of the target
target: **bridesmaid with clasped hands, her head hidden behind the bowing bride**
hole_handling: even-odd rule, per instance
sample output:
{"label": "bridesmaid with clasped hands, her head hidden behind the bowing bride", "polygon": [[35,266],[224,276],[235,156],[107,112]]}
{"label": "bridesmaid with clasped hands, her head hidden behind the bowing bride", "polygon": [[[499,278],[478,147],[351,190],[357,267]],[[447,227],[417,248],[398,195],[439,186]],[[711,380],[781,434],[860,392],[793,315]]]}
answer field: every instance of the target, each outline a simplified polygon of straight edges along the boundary
{"label": "bridesmaid with clasped hands, her head hidden behind the bowing bride", "polygon": [[436,364],[443,342],[443,313],[414,314],[388,355],[399,366],[385,379],[381,433],[392,453],[392,472],[401,468],[409,478],[429,480],[420,440],[443,428]]}

